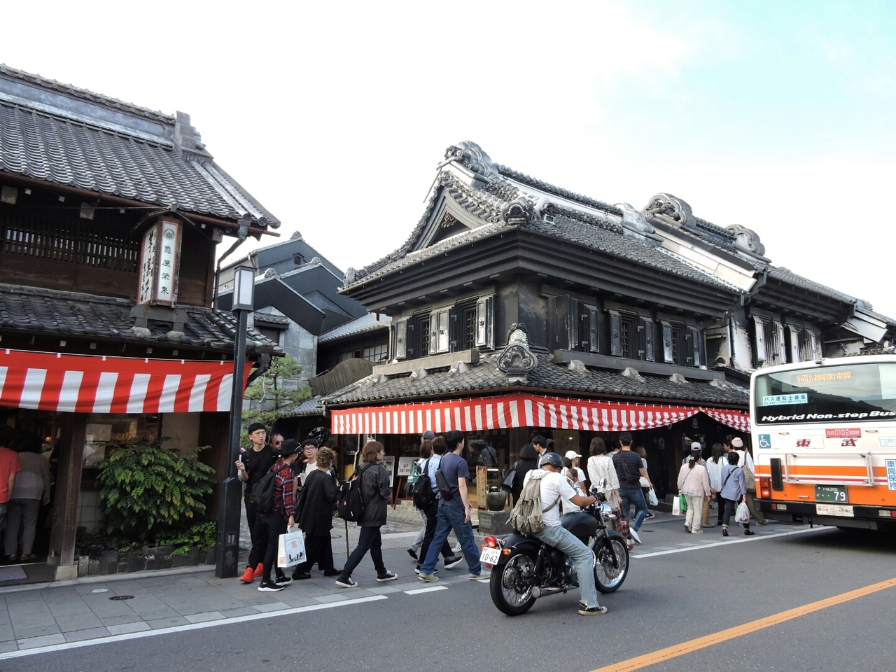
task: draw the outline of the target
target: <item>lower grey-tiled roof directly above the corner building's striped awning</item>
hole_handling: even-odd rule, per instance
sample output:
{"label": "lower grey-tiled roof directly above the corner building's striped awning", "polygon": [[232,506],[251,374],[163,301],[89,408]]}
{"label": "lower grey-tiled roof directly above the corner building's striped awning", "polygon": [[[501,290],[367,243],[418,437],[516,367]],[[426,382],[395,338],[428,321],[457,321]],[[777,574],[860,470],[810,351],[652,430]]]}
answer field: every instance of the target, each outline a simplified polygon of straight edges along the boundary
{"label": "lower grey-tiled roof directly above the corner building's striped awning", "polygon": [[[520,387],[509,384],[507,375],[497,367],[498,354],[487,355],[478,365],[470,366],[463,373],[452,375],[448,369],[428,372],[420,380],[409,375],[393,377],[383,383],[372,383],[367,378],[359,383],[334,392],[326,398],[327,406],[358,405],[362,403],[386,403],[392,401],[421,401],[468,392],[513,392]],[[555,364],[547,352],[538,353],[538,366],[528,375],[526,388],[541,392],[584,394],[587,396],[613,396],[649,398],[668,403],[679,401],[717,406],[745,407],[749,392],[728,383],[715,387],[702,381],[673,383],[666,377],[644,375],[644,381],[633,380],[613,371],[587,369],[579,374],[564,364]]]}

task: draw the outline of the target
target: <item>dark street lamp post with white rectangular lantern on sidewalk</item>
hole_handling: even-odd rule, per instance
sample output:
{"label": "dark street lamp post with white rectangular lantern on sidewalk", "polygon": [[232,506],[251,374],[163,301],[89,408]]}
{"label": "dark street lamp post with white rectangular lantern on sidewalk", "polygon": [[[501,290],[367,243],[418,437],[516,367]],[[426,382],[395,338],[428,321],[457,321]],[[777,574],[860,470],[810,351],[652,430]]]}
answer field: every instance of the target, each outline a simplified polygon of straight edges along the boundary
{"label": "dark street lamp post with white rectangular lantern on sidewalk", "polygon": [[233,392],[230,395],[230,435],[228,444],[228,478],[221,482],[218,507],[218,554],[215,576],[230,579],[237,575],[239,556],[239,519],[243,482],[236,473],[239,459],[239,436],[243,415],[243,369],[246,367],[246,323],[254,308],[255,270],[239,266],[233,277],[233,306],[237,314],[237,335],[234,337]]}

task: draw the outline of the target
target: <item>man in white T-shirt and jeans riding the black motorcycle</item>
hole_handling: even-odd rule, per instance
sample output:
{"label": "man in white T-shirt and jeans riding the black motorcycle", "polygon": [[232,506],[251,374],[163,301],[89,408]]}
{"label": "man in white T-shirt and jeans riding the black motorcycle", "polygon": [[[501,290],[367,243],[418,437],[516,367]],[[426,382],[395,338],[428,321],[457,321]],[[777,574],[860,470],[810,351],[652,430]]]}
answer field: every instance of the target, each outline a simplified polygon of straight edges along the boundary
{"label": "man in white T-shirt and jeans riding the black motorcycle", "polygon": [[579,614],[582,616],[601,616],[607,613],[607,607],[598,604],[598,591],[594,587],[594,554],[569,530],[560,525],[560,507],[551,506],[563,497],[576,506],[588,506],[598,501],[597,497],[582,495],[560,474],[563,458],[556,452],[546,452],[542,456],[541,469],[531,470],[526,474],[525,482],[530,478],[538,478],[541,495],[541,509],[544,513],[544,529],[535,533],[535,537],[562,551],[573,561],[579,577]]}

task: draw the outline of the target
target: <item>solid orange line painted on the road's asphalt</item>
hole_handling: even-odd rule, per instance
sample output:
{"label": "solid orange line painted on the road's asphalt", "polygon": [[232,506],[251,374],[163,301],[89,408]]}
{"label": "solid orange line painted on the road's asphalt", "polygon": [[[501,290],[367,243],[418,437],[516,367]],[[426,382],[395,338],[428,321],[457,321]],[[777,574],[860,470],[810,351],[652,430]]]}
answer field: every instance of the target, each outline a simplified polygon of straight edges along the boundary
{"label": "solid orange line painted on the road's asphalt", "polygon": [[728,630],[722,630],[718,633],[708,634],[705,637],[698,637],[697,639],[690,640],[689,642],[682,642],[680,644],[676,644],[675,646],[669,646],[666,649],[660,649],[657,651],[653,651],[652,653],[645,653],[643,656],[623,660],[622,662],[614,663],[613,665],[607,665],[606,667],[595,669],[591,672],[631,672],[635,669],[647,668],[650,667],[650,665],[656,665],[657,663],[661,663],[665,660],[677,658],[678,656],[684,656],[685,654],[691,653],[695,650],[705,649],[708,646],[720,644],[721,642],[727,642],[728,640],[733,640],[736,637],[741,637],[745,634],[755,633],[757,630],[771,627],[771,625],[778,625],[799,616],[806,616],[806,614],[811,614],[814,611],[820,611],[822,609],[826,609],[827,607],[833,607],[834,605],[842,604],[843,602],[849,602],[849,600],[851,599],[862,598],[879,590],[885,590],[887,588],[893,587],[896,587],[896,578],[880,583],[874,583],[873,585],[866,586],[865,588],[859,588],[858,590],[850,590],[849,592],[840,593],[840,595],[834,595],[832,598],[820,599],[817,602],[810,602],[809,604],[803,605],[802,607],[789,609],[788,611],[782,611],[780,612],[780,614],[766,616],[765,618],[750,621],[750,623],[745,623],[744,625],[737,625],[733,628],[728,628]]}

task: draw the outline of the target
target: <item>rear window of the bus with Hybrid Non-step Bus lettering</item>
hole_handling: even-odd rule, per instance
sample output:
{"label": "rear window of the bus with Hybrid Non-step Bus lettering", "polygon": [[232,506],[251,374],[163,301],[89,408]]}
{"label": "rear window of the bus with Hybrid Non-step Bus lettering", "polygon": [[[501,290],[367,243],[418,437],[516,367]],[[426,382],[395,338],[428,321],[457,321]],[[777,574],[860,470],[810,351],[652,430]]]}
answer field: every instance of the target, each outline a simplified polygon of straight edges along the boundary
{"label": "rear window of the bus with Hybrid Non-step Bus lettering", "polygon": [[754,389],[757,425],[896,418],[896,363],[758,374]]}

